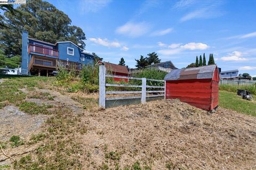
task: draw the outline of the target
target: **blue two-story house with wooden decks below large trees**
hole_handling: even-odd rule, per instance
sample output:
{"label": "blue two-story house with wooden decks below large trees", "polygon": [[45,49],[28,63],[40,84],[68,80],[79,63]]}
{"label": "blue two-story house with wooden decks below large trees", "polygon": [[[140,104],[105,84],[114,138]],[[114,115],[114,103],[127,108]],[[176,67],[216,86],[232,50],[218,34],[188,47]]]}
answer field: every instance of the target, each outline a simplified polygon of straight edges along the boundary
{"label": "blue two-story house with wooden decks below large trees", "polygon": [[48,76],[57,66],[81,70],[82,66],[93,66],[93,55],[86,53],[73,42],[55,44],[28,37],[22,32],[22,75]]}

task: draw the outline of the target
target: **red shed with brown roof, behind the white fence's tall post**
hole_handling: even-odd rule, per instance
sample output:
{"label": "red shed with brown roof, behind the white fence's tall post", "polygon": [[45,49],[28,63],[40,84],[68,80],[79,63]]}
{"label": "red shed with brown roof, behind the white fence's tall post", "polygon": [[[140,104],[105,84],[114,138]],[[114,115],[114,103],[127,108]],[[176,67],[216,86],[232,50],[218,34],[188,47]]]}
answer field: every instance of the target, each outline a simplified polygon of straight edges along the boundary
{"label": "red shed with brown roof, behind the white fence's tall post", "polygon": [[[126,66],[121,66],[119,64],[113,64],[110,62],[105,61],[99,61],[97,64],[104,64],[106,67],[107,72],[111,72],[112,75],[118,75],[118,76],[128,76],[129,72]],[[114,77],[114,81],[121,82],[125,81],[128,82],[127,78],[117,78]]]}

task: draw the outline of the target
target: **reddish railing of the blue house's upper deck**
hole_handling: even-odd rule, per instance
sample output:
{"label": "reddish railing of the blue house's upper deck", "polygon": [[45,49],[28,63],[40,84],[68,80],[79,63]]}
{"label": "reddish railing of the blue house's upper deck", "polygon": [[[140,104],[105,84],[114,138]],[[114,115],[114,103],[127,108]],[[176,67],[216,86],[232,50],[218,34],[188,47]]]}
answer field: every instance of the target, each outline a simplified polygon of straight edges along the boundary
{"label": "reddish railing of the blue house's upper deck", "polygon": [[59,57],[59,51],[58,50],[53,50],[51,48],[47,47],[42,47],[34,44],[29,44],[28,46],[28,53],[34,52],[34,53],[39,53],[39,54],[44,54],[44,55],[51,55],[55,57]]}

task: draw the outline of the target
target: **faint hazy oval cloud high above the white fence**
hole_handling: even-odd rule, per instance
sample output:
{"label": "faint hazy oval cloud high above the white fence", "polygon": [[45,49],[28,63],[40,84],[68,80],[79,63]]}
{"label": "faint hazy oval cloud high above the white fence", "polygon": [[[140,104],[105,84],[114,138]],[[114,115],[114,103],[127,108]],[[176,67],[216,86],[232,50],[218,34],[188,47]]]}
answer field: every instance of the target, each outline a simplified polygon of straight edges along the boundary
{"label": "faint hazy oval cloud high above the white fence", "polygon": [[116,29],[116,33],[127,35],[130,37],[139,37],[141,35],[148,33],[149,27],[150,26],[146,22],[127,22],[125,23],[125,25],[118,27]]}

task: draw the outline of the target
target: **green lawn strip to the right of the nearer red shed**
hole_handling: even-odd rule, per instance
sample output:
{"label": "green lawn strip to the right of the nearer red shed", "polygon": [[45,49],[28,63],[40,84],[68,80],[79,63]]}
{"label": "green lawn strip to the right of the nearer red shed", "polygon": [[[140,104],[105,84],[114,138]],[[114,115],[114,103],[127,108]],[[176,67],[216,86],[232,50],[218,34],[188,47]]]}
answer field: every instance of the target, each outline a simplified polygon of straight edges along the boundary
{"label": "green lawn strip to the right of the nearer red shed", "polygon": [[241,96],[236,95],[236,93],[231,93],[227,91],[219,91],[219,106],[236,110],[243,114],[256,116],[256,102],[243,100]]}

